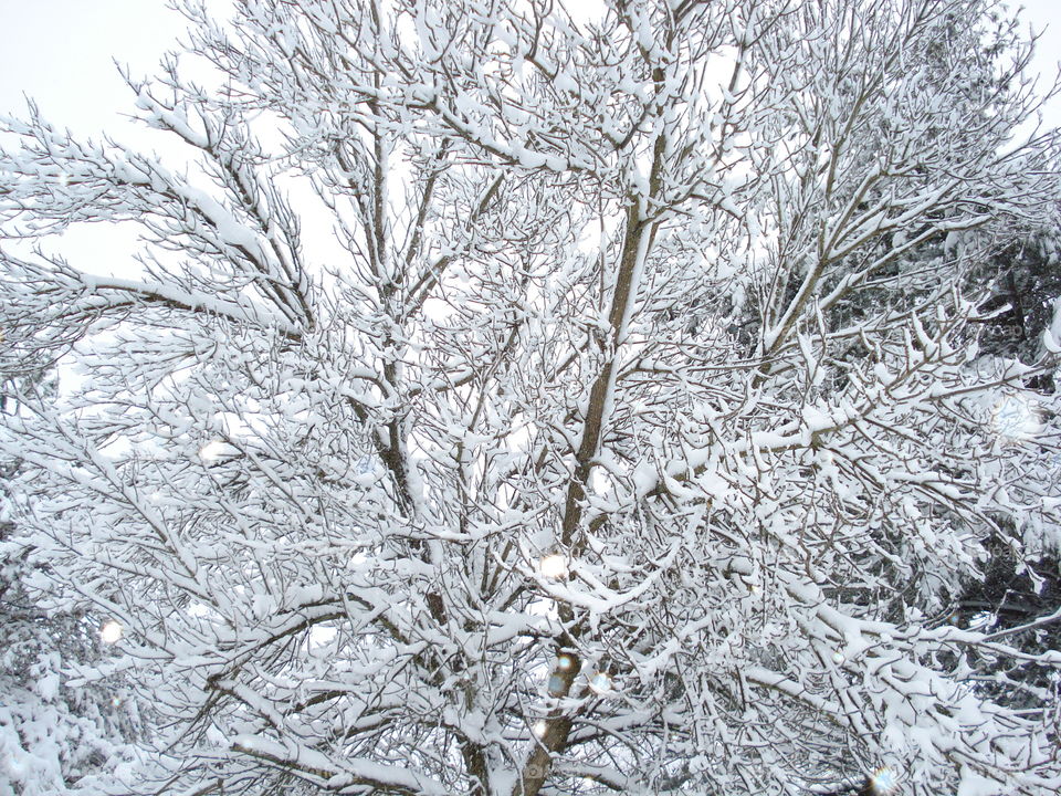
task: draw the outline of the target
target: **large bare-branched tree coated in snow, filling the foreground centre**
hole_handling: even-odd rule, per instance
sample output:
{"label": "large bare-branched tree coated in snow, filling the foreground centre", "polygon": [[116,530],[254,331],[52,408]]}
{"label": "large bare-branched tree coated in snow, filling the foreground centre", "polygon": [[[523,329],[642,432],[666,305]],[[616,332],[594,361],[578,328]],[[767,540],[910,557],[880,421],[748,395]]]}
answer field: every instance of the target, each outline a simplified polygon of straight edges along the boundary
{"label": "large bare-branched tree coated in snow, filling the foreground centre", "polygon": [[[180,7],[185,161],[0,156],[0,366],[66,374],[0,444],[145,790],[1061,787],[1058,616],[949,610],[1059,542],[1061,322],[977,344],[1059,185],[998,3]],[[81,222],[136,262],[25,251]]]}

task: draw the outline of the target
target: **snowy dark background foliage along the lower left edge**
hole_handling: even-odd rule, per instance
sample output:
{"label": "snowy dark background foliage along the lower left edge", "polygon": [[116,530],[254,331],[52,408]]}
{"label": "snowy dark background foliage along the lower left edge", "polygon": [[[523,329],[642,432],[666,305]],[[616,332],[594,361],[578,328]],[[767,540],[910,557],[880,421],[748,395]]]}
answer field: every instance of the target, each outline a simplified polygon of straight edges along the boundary
{"label": "snowy dark background foliage along the lower left edge", "polygon": [[[40,383],[3,387],[28,380]],[[11,389],[0,398],[14,411]],[[73,684],[107,656],[84,608],[46,610],[49,583],[11,520],[15,472],[17,462],[0,462],[0,794],[99,794],[132,771],[140,716],[120,677]]]}

